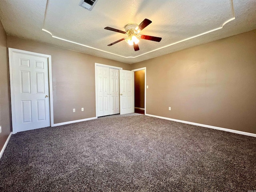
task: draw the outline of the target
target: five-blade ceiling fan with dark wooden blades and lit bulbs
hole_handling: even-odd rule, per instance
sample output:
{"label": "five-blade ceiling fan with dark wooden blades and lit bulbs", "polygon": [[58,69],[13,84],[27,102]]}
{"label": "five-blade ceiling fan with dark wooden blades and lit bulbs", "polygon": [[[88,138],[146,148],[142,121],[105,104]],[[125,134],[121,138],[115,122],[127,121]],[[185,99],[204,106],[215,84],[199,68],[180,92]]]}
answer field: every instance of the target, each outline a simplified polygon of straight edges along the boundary
{"label": "five-blade ceiling fan with dark wooden blades and lit bulbs", "polygon": [[150,23],[152,23],[152,21],[150,21],[149,19],[144,19],[139,25],[135,24],[135,23],[129,23],[124,27],[125,31],[114,29],[112,27],[105,27],[104,29],[106,29],[106,30],[110,30],[110,31],[128,35],[128,37],[117,40],[117,41],[109,44],[108,46],[112,46],[122,40],[125,40],[126,43],[128,43],[129,45],[133,45],[135,51],[138,51],[138,50],[140,50],[140,48],[138,46],[138,42],[140,41],[139,39],[146,39],[146,40],[150,40],[150,41],[160,42],[162,40],[162,38],[160,38],[160,37],[154,37],[154,36],[148,36],[148,35],[138,35],[138,33],[141,32],[141,30],[144,29],[146,26],[148,26]]}

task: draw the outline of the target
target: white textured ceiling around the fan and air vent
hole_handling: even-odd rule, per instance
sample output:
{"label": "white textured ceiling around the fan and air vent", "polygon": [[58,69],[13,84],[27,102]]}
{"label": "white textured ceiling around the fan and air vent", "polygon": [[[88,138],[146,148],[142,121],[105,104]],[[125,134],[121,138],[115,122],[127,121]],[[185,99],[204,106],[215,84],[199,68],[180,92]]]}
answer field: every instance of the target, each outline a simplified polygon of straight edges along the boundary
{"label": "white textured ceiling around the fan and air vent", "polygon": [[[80,0],[1,0],[0,19],[8,35],[36,40],[86,54],[135,63],[256,28],[256,0],[98,0],[92,11]],[[135,52],[124,30],[128,23],[152,23],[140,34]]]}

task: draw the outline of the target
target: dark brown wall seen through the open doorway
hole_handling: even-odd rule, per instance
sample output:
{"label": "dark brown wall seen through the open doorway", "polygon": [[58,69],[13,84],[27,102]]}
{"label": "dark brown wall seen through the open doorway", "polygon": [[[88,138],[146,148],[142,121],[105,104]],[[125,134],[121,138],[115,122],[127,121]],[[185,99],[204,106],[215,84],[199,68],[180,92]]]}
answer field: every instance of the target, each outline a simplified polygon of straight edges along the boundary
{"label": "dark brown wall seen through the open doorway", "polygon": [[134,107],[144,108],[145,70],[134,72]]}

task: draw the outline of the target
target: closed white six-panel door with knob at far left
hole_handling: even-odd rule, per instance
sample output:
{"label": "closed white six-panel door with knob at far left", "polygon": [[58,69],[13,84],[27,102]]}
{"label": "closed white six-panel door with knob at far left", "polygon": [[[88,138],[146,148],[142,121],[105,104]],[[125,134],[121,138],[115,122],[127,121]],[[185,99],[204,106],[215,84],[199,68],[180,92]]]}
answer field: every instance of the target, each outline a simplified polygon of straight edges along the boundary
{"label": "closed white six-panel door with knob at far left", "polygon": [[48,59],[13,53],[16,131],[50,126]]}

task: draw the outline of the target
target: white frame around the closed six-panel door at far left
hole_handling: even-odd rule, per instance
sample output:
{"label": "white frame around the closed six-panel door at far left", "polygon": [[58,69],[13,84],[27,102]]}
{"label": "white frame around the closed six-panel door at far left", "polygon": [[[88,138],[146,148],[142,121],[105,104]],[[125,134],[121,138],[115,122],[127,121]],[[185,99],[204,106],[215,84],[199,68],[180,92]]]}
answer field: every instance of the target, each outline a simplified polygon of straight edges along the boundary
{"label": "white frame around the closed six-panel door at far left", "polygon": [[38,56],[47,58],[48,60],[48,85],[49,85],[49,119],[50,126],[54,125],[53,122],[53,96],[52,96],[52,56],[46,54],[40,54],[25,50],[19,50],[14,48],[8,48],[9,52],[9,74],[10,74],[10,95],[11,95],[11,114],[12,114],[12,134],[17,133],[16,127],[16,111],[15,111],[15,92],[14,92],[14,63],[13,63],[13,54],[27,54],[32,56]]}

